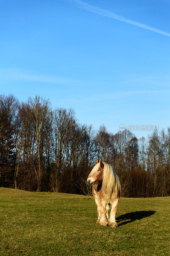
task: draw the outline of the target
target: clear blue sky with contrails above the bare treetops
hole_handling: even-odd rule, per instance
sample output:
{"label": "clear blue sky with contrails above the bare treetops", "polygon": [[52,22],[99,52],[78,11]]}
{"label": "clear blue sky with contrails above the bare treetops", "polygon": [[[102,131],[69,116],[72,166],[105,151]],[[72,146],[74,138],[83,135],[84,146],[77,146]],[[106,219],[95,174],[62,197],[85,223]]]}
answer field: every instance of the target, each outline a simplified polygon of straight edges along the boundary
{"label": "clear blue sky with contrails above the bare treetops", "polygon": [[170,126],[169,1],[0,5],[0,93],[38,94],[113,133],[120,124]]}

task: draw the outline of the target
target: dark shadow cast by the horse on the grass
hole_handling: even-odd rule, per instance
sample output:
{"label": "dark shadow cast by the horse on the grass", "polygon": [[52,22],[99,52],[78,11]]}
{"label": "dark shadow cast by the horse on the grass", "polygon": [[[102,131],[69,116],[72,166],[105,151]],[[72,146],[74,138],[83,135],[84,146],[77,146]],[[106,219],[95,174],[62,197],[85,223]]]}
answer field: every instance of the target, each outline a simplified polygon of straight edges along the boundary
{"label": "dark shadow cast by the horse on the grass", "polygon": [[125,225],[135,220],[141,220],[143,218],[149,217],[153,215],[155,211],[138,211],[138,212],[128,212],[123,215],[120,215],[116,218],[117,222],[123,221],[122,223],[118,224],[118,226]]}

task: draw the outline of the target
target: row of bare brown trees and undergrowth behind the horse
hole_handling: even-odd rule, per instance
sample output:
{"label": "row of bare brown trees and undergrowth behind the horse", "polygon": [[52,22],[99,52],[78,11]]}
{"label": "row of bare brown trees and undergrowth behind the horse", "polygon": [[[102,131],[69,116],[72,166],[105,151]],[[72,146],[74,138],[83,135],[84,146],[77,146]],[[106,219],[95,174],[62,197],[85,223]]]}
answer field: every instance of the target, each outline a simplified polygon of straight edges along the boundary
{"label": "row of bare brown trees and undergrowth behind the horse", "polygon": [[104,124],[95,131],[39,96],[0,95],[0,187],[91,195],[96,159],[112,165],[124,197],[170,194],[170,128],[138,140]]}

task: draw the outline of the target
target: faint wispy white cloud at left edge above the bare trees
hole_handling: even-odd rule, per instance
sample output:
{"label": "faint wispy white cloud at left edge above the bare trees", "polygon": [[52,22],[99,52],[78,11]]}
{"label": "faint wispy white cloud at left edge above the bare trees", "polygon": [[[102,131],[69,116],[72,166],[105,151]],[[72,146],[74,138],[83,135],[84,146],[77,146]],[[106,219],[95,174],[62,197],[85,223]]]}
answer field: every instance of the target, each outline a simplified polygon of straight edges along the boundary
{"label": "faint wispy white cloud at left edge above the bare trees", "polygon": [[41,82],[41,83],[69,83],[70,79],[56,76],[45,76],[42,74],[35,74],[28,70],[18,68],[0,68],[1,80],[17,80],[26,82]]}

